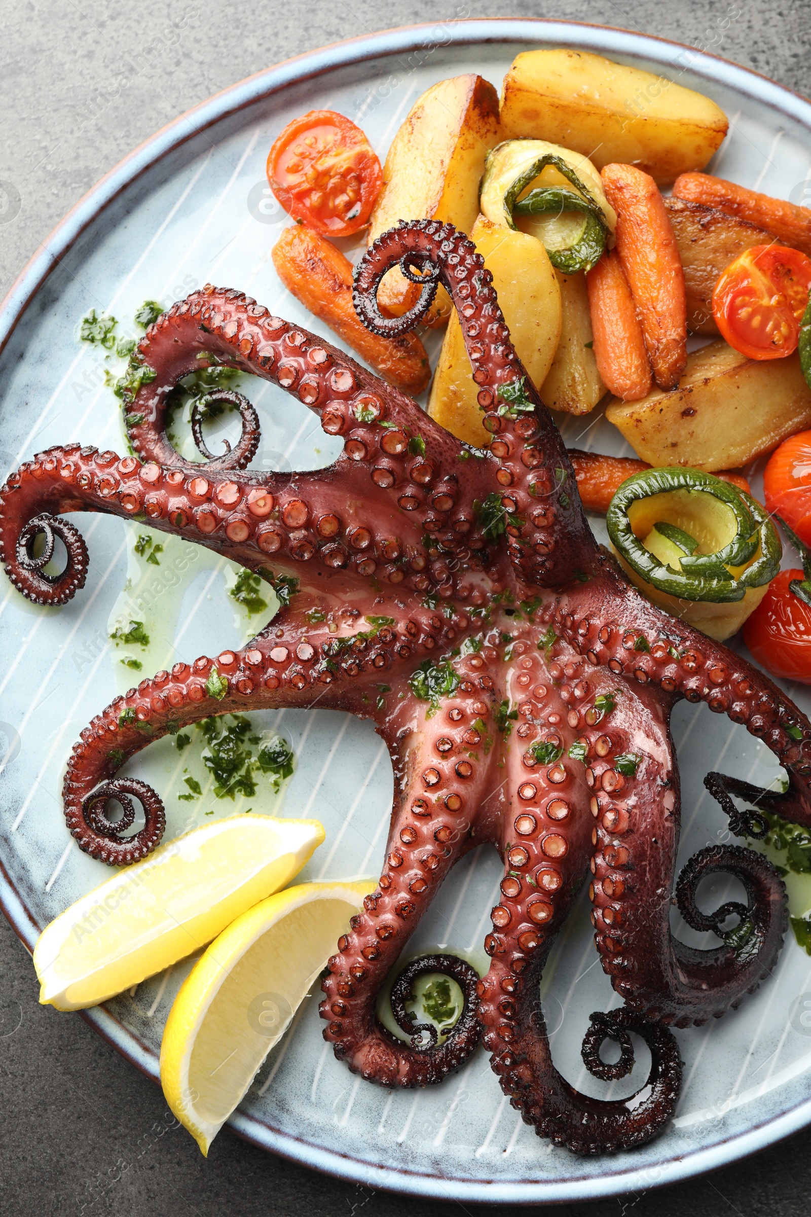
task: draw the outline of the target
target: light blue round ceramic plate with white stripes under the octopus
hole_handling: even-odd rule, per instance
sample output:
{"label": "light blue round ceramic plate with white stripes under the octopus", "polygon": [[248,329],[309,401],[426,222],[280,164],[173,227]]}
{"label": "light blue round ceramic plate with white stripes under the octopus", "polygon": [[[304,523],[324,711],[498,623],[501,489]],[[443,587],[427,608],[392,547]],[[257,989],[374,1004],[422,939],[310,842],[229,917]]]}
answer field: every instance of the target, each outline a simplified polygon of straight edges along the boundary
{"label": "light blue round ceramic plate with white stripes under the octopus", "polygon": [[[77,341],[78,321],[90,308],[114,313],[120,330],[133,332],[143,298],[170,302],[212,280],[321,329],[280,286],[270,260],[286,217],[265,192],[264,166],[291,118],[314,107],[339,110],[365,128],[383,156],[428,85],[475,71],[499,86],[518,51],[559,45],[661,72],[708,94],[731,119],[713,168],[748,186],[805,198],[811,105],[762,77],[672,43],[545,21],[469,21],[376,34],[302,56],[235,85],[135,151],[74,208],[26,269],[0,314],[0,477],[55,443],[123,449],[120,415],[103,383],[105,360]],[[314,467],[332,459],[332,442],[304,406],[260,383],[249,393],[263,416],[258,466]],[[593,417],[565,420],[564,436],[573,447],[623,450],[618,433]],[[223,563],[199,550],[185,561],[175,549],[164,553],[159,567],[134,570],[135,526],[102,516],[79,522],[91,567],[72,604],[36,610],[7,582],[0,587],[0,730],[7,744],[0,773],[0,891],[6,915],[29,948],[51,918],[108,875],[67,834],[60,775],[79,729],[122,680],[129,683],[120,652],[107,640],[117,606],[124,611],[140,600],[147,626],[163,630],[160,645],[186,660],[236,645],[249,629],[226,595]],[[128,578],[140,583],[125,602]],[[148,672],[160,666],[148,658]],[[789,692],[811,707],[805,690]],[[372,728],[317,710],[257,717],[264,729],[286,733],[297,753],[283,814],[319,817],[327,830],[302,877],[378,874],[392,772]],[[708,769],[764,784],[777,770],[770,752],[703,707],[682,705],[674,727],[685,803],[681,865],[708,842],[725,839],[723,818],[702,786]],[[202,821],[203,803],[178,800],[182,767],[174,772],[175,757],[160,747],[147,750],[134,770],[167,795],[170,836]],[[221,814],[219,804],[215,814]],[[471,854],[412,946],[480,952],[499,871],[495,853]],[[86,1015],[152,1077],[187,966]],[[584,1075],[579,1048],[588,1014],[618,1002],[597,963],[585,903],[562,935],[544,989],[558,1067],[574,1084],[604,1093]],[[232,1125],[308,1166],[443,1200],[552,1202],[646,1189],[721,1166],[811,1120],[811,1028],[800,1017],[806,991],[811,1002],[811,959],[789,938],[773,978],[737,1014],[678,1032],[686,1069],[677,1116],[657,1142],[632,1154],[582,1160],[539,1140],[502,1095],[480,1051],[430,1090],[388,1094],[362,1083],[321,1039],[316,996],[304,1003]],[[641,1060],[636,1078],[643,1069]],[[216,1143],[212,1152],[216,1157]]]}

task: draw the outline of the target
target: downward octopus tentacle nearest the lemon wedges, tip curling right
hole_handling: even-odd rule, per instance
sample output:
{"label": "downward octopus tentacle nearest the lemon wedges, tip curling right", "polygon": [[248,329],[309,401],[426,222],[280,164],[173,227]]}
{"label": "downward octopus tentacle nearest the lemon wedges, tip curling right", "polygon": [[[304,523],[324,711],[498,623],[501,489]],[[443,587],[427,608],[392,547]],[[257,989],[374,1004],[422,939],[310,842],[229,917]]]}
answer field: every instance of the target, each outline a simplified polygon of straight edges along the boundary
{"label": "downward octopus tentacle nearest the lemon wedges, tip curling right", "polygon": [[[478,658],[473,656],[472,658]],[[467,661],[469,666],[469,660]],[[473,672],[479,668],[473,667]],[[463,680],[440,713],[387,724],[394,772],[399,775],[377,891],[338,941],[322,982],[323,1036],[353,1072],[383,1086],[427,1086],[457,1069],[479,1038],[478,1025],[463,1014],[445,1043],[415,1048],[394,1037],[376,1015],[385,977],[402,954],[451,867],[473,845],[494,840],[497,800],[497,753],[481,757],[474,748],[480,731],[471,725],[489,717],[492,680],[485,689]],[[467,688],[466,688],[467,686]],[[475,758],[478,756],[478,759]],[[494,819],[483,809],[488,802]],[[475,832],[475,837],[473,836]]]}

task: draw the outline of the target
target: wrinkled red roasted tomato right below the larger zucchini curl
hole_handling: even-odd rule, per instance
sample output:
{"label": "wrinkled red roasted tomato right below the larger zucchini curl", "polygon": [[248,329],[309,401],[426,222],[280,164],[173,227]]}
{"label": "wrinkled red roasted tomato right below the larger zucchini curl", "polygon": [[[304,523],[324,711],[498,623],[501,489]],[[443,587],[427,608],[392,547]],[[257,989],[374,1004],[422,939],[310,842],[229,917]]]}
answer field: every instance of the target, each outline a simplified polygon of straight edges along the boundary
{"label": "wrinkled red roasted tomato right below the larger zucchini curl", "polygon": [[781,571],[743,627],[758,663],[776,677],[811,684],[811,606],[789,589],[802,571]]}

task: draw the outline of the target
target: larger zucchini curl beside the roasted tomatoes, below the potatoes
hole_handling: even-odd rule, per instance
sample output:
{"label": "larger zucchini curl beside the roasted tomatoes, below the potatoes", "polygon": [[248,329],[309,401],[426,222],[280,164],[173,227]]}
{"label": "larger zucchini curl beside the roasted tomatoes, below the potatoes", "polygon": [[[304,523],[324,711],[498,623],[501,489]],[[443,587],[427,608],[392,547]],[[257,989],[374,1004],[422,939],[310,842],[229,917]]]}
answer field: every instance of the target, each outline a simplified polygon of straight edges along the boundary
{"label": "larger zucchini curl beside the roasted tomatoes, below the potatoes", "polygon": [[606,525],[640,591],[717,640],[740,628],[779,571],[782,545],[765,509],[700,470],[636,473]]}

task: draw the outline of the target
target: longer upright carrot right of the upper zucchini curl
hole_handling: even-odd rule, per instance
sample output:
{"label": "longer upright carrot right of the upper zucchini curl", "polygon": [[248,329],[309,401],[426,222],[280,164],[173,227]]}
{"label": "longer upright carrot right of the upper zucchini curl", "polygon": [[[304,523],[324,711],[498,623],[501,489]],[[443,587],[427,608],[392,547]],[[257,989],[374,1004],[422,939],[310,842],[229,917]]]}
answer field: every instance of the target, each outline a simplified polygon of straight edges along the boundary
{"label": "longer upright carrot right of the upper zucchini curl", "polygon": [[664,201],[653,178],[633,166],[607,164],[601,175],[654,380],[675,388],[687,363],[687,296]]}

